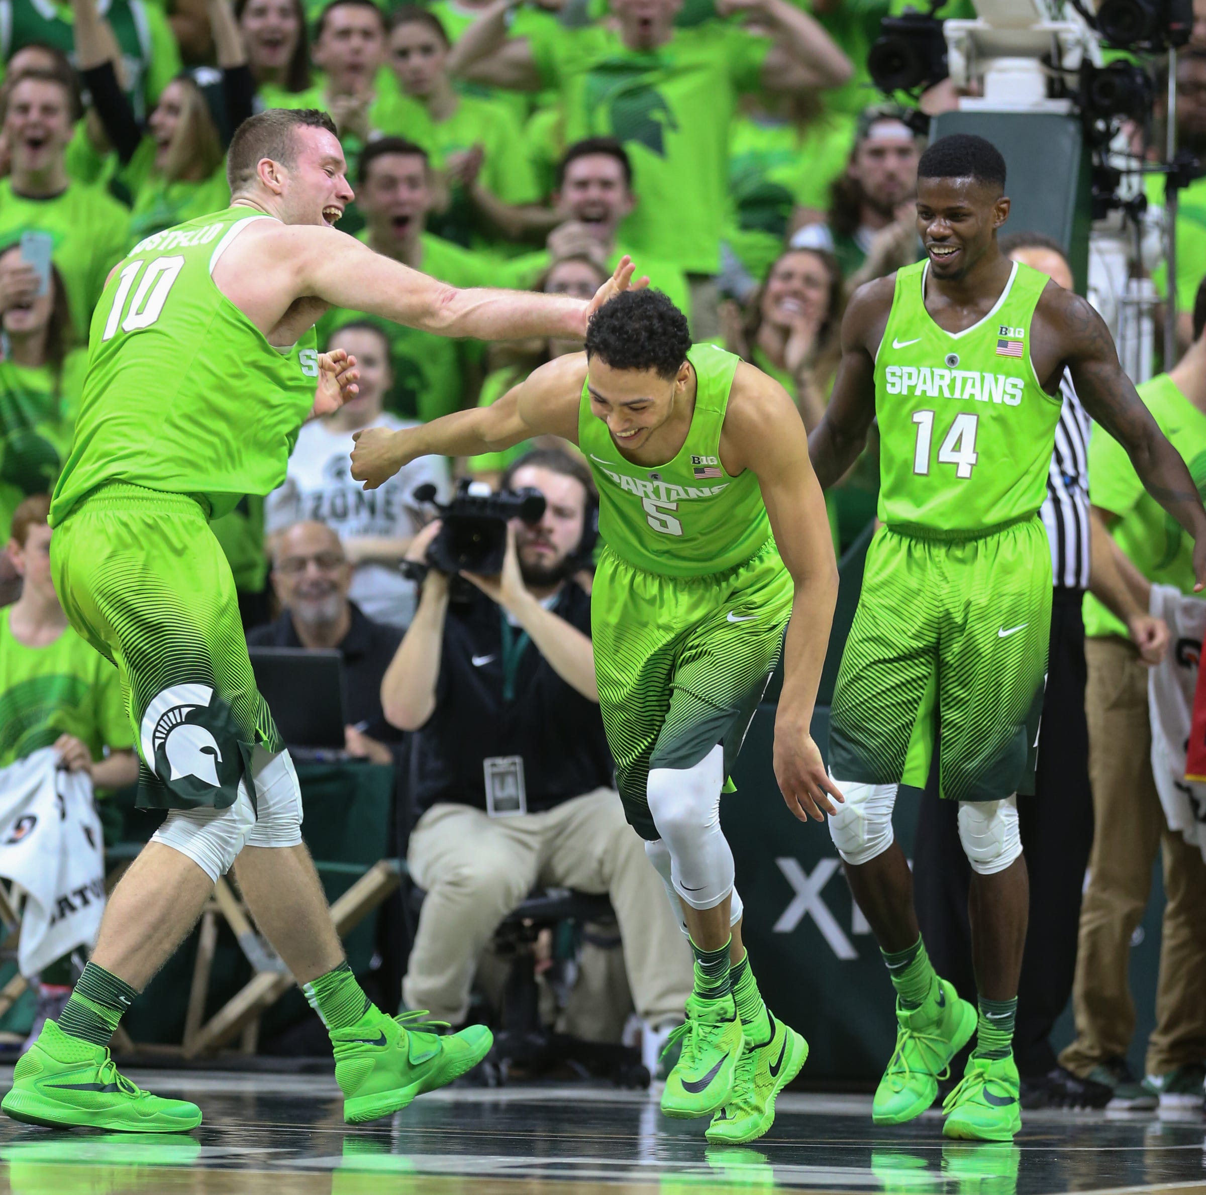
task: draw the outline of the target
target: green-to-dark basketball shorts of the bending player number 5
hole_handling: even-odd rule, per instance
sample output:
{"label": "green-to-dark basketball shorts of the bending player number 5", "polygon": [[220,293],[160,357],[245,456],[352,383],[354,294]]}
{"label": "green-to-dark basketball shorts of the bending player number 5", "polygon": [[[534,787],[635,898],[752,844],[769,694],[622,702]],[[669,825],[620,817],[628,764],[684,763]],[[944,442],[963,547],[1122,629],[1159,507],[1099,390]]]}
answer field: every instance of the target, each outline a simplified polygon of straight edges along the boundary
{"label": "green-to-dark basketball shorts of the bending player number 5", "polygon": [[727,777],[779,660],[791,576],[773,540],[744,564],[674,578],[604,547],[591,591],[595,674],[616,786],[637,832],[650,768],[690,768],[716,744]]}

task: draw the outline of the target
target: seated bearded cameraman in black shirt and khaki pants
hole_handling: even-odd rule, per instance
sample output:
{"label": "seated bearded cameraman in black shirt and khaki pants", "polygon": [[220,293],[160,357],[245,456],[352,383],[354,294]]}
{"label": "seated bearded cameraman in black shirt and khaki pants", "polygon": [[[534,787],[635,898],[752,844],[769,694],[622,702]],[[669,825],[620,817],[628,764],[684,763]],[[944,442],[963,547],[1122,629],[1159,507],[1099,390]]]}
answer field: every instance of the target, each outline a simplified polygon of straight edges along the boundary
{"label": "seated bearded cameraman in black shirt and khaki pants", "polygon": [[[510,521],[497,575],[462,568],[470,587],[428,569],[381,685],[386,717],[420,732],[411,796],[421,816],[408,863],[427,896],[403,1000],[459,1025],[478,956],[502,920],[535,884],[556,884],[608,894],[637,1013],[656,1030],[681,1021],[691,961],[614,789],[590,596],[574,580],[593,546],[595,486],[558,449],[529,452],[503,475],[504,491],[528,486],[544,512]],[[441,526],[415,537],[411,561],[434,555],[447,566],[449,535],[429,551]],[[473,538],[463,527],[458,535],[462,545]]]}

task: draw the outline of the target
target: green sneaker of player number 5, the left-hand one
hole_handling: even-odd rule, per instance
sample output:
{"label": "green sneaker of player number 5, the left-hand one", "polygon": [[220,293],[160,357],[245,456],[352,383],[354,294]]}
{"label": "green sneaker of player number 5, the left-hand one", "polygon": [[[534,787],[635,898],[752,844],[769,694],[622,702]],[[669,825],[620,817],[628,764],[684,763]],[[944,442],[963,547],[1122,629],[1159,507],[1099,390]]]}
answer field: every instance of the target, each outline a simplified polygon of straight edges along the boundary
{"label": "green sneaker of player number 5, the left-hand one", "polygon": [[666,1041],[666,1049],[683,1043],[679,1060],[666,1076],[662,1113],[686,1120],[710,1117],[733,1094],[742,1053],[742,1023],[732,996],[721,1000],[686,997],[686,1021]]}

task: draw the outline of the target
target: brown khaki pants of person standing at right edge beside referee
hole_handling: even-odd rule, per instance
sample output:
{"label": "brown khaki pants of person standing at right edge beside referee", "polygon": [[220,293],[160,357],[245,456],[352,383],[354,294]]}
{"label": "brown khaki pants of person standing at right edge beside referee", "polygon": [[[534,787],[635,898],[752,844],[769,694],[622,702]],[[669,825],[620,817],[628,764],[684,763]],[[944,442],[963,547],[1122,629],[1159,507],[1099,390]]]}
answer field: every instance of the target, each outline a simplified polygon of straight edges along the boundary
{"label": "brown khaki pants of person standing at right edge beside referee", "polygon": [[1095,832],[1072,988],[1077,1038],[1060,1061],[1084,1076],[1097,1062],[1126,1055],[1135,1032],[1130,939],[1147,906],[1159,848],[1166,903],[1146,1068],[1165,1074],[1206,1059],[1206,862],[1198,847],[1169,830],[1155,792],[1147,669],[1138,654],[1110,637],[1087,639],[1084,655]]}

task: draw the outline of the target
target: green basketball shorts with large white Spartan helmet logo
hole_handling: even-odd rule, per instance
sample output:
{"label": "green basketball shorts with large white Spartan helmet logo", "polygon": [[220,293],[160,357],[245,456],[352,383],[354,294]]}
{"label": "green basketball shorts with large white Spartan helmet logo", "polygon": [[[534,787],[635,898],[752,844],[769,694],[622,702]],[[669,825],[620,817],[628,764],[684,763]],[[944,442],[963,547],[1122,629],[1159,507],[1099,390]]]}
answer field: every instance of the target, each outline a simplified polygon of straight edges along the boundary
{"label": "green basketball shorts with large white Spartan helmet logo", "polygon": [[200,503],[103,486],[54,529],[51,567],[71,625],[121,673],[142,757],[137,803],[232,806],[252,748],[282,744],[256,689],[230,566]]}

